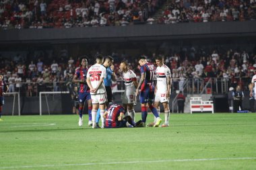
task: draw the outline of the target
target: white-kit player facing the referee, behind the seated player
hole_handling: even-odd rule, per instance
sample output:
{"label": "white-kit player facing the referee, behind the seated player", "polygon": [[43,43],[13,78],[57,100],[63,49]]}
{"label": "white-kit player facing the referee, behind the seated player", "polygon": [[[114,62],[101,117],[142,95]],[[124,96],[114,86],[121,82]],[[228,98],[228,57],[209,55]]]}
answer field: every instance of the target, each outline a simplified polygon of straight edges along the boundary
{"label": "white-kit player facing the referee, behind the seated player", "polygon": [[123,81],[125,83],[125,93],[122,98],[123,106],[125,107],[125,111],[128,110],[129,116],[131,116],[132,120],[135,117],[135,111],[133,109],[133,105],[135,103],[135,92],[137,88],[137,77],[133,71],[128,68],[127,62],[121,62],[119,69],[123,72]]}

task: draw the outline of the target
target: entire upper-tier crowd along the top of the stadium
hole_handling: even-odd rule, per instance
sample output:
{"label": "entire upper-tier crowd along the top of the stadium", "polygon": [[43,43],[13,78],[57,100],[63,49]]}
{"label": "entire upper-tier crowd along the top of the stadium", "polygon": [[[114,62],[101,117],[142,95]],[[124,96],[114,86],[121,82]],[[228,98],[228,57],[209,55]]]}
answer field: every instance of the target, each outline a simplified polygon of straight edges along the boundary
{"label": "entire upper-tier crowd along the top of the stadium", "polygon": [[255,0],[172,0],[156,21],[164,0],[1,0],[0,28],[71,28],[141,23],[255,20]]}

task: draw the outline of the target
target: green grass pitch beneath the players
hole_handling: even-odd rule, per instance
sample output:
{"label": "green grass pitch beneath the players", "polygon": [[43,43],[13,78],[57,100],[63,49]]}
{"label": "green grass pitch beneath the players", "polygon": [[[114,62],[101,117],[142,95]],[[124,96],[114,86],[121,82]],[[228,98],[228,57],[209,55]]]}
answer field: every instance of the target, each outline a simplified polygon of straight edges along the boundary
{"label": "green grass pitch beneath the players", "polygon": [[0,169],[256,169],[256,114],[173,114],[168,128],[91,129],[74,115],[3,120]]}

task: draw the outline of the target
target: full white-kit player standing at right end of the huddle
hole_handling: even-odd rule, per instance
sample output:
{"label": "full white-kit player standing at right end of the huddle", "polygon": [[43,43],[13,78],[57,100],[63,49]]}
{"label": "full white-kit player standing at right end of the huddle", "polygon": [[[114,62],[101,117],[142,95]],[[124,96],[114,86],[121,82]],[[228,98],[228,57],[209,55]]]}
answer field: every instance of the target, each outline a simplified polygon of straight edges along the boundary
{"label": "full white-kit player standing at right end of the huddle", "polygon": [[158,109],[158,114],[160,114],[160,103],[164,106],[164,118],[165,122],[162,127],[169,126],[169,97],[170,97],[170,87],[172,84],[170,69],[164,65],[164,58],[162,56],[156,57],[156,96],[154,100],[154,107]]}

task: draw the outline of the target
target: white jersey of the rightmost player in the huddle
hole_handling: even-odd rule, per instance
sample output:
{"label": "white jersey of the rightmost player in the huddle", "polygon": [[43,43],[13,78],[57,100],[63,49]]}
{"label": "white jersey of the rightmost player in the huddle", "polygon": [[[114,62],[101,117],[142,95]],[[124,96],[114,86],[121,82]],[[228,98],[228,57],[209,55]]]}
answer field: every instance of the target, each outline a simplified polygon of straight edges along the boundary
{"label": "white jersey of the rightmost player in the huddle", "polygon": [[167,77],[171,77],[170,69],[166,65],[156,68],[157,91],[156,93],[166,93]]}

